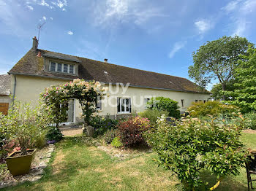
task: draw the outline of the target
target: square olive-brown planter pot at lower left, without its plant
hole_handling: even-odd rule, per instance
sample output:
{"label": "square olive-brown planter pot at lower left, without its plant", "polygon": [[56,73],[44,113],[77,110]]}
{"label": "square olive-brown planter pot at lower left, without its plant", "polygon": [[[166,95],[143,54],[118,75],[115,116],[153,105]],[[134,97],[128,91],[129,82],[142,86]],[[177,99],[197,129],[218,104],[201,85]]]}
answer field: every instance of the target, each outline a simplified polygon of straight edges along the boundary
{"label": "square olive-brown planter pot at lower left, without its plant", "polygon": [[15,151],[12,152],[7,157],[7,167],[12,174],[12,176],[22,175],[22,174],[28,174],[32,160],[34,159],[34,154],[37,149],[29,149],[28,155],[17,155],[18,153],[21,153],[21,151]]}

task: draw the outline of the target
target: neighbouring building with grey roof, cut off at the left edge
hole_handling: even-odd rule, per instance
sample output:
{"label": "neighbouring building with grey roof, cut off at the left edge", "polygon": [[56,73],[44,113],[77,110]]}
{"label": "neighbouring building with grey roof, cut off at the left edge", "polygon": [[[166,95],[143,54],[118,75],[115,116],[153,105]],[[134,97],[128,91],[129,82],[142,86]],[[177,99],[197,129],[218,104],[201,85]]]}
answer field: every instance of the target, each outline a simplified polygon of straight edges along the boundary
{"label": "neighbouring building with grey roof, cut off at the left edge", "polygon": [[10,98],[10,75],[0,75],[0,112],[7,114],[11,103]]}

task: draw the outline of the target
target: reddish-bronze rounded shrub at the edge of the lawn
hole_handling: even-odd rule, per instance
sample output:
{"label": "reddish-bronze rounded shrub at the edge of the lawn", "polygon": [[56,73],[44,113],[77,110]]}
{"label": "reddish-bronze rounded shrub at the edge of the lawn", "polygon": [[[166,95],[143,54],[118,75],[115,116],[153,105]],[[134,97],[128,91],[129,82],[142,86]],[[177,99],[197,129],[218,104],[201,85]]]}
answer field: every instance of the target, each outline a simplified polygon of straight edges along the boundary
{"label": "reddish-bronze rounded shrub at the edge of the lawn", "polygon": [[143,132],[150,128],[150,121],[143,117],[129,118],[127,121],[118,125],[121,142],[129,147],[141,143],[143,140]]}

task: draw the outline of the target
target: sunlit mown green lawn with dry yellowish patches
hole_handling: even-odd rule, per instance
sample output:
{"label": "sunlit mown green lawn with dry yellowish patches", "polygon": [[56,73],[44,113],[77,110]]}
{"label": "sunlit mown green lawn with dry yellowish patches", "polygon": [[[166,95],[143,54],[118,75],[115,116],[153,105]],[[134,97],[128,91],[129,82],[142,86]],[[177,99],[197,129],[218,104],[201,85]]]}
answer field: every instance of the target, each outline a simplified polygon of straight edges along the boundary
{"label": "sunlit mown green lawn with dry yellowish patches", "polygon": [[[256,134],[243,133],[242,140],[256,148]],[[157,166],[156,157],[155,153],[144,153],[120,161],[83,136],[67,137],[57,144],[42,179],[5,190],[182,190],[175,175]],[[215,184],[215,177],[207,171],[202,176],[209,186]],[[224,179],[217,190],[247,190],[245,168],[239,176]]]}

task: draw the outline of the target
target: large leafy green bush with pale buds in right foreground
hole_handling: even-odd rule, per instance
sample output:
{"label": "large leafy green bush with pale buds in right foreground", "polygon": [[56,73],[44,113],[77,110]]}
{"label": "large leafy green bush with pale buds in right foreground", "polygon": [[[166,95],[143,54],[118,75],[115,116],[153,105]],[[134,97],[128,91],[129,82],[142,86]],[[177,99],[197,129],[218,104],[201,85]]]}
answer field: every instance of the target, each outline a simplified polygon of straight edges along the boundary
{"label": "large leafy green bush with pale buds in right foreground", "polygon": [[157,152],[160,165],[173,171],[187,190],[197,190],[203,184],[203,169],[216,174],[219,181],[224,176],[239,174],[248,153],[240,140],[243,120],[236,120],[241,125],[188,116],[171,126],[162,116],[157,128],[146,133],[146,140]]}

